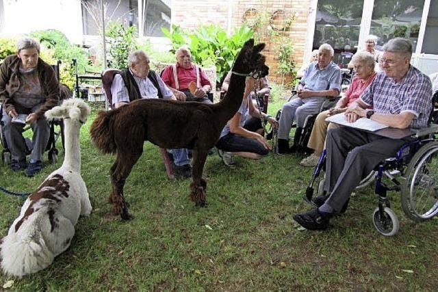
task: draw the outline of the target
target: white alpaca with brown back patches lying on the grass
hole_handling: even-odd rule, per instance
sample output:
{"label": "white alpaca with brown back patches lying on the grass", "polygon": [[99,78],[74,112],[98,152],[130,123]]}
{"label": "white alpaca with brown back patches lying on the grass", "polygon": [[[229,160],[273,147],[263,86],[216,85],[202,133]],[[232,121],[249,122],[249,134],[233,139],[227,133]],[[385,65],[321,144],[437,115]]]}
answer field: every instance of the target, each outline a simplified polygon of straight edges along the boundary
{"label": "white alpaca with brown back patches lying on the grass", "polygon": [[79,99],[68,99],[46,112],[48,120],[64,118],[64,163],[27,198],[3,238],[0,254],[5,274],[21,277],[51,265],[70,246],[79,215],[90,215],[79,148],[79,131],[88,114],[90,107]]}

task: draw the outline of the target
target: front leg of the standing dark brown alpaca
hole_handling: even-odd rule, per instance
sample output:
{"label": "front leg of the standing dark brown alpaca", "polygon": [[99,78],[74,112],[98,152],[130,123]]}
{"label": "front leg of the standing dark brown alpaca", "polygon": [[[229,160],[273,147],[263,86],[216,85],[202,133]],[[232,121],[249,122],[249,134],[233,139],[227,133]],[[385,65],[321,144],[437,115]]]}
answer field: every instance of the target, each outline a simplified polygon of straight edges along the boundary
{"label": "front leg of the standing dark brown alpaca", "polygon": [[205,207],[207,182],[202,178],[205,159],[207,159],[207,151],[194,150],[193,151],[193,168],[192,179],[190,184],[190,200],[195,203],[195,206]]}

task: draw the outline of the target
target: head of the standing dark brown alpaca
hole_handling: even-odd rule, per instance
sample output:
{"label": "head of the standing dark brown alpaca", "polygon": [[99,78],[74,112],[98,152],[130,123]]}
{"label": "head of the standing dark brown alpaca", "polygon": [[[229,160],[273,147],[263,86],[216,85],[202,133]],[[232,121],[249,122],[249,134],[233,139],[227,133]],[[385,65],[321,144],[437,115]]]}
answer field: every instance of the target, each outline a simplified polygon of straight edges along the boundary
{"label": "head of the standing dark brown alpaca", "polygon": [[260,53],[264,48],[265,44],[263,42],[254,45],[252,38],[246,41],[239,55],[237,55],[233,71],[251,74],[256,78],[268,75],[269,68],[265,65],[266,57]]}

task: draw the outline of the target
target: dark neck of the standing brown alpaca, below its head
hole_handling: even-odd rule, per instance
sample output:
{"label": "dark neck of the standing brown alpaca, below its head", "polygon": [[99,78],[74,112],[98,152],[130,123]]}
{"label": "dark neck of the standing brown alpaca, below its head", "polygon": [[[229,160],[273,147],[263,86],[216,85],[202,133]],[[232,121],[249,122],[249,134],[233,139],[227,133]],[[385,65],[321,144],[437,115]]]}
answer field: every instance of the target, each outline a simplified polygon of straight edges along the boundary
{"label": "dark neck of the standing brown alpaca, below its head", "polygon": [[230,85],[225,98],[219,103],[218,120],[226,124],[237,112],[244,98],[246,77],[231,75]]}

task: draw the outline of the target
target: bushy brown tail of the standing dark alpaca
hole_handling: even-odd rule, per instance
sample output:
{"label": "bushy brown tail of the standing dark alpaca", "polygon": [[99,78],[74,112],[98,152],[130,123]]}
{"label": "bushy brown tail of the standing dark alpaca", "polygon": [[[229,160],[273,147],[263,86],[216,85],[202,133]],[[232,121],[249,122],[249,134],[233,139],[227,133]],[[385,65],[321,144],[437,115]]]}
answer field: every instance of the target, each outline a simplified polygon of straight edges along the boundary
{"label": "bushy brown tail of the standing dark alpaca", "polygon": [[91,140],[103,153],[115,154],[117,151],[116,142],[114,141],[113,127],[114,118],[117,113],[117,110],[100,111],[99,115],[91,125]]}

